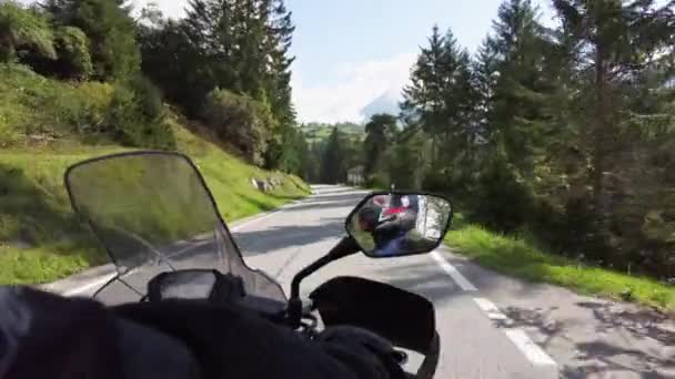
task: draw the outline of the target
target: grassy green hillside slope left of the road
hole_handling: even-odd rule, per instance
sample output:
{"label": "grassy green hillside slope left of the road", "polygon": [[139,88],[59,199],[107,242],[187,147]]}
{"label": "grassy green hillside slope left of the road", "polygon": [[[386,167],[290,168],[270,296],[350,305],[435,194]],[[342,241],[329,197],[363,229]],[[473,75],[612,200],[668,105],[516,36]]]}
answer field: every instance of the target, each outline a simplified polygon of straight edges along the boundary
{"label": "grassy green hillside slope left of the road", "polygon": [[[107,85],[66,84],[21,70],[0,75],[0,284],[47,283],[107,262],[71,212],[63,172],[75,162],[132,148],[70,132],[61,115],[73,110],[58,103],[64,96],[92,98],[92,89],[105,94]],[[248,165],[181,120],[169,113],[177,150],[197,162],[226,221],[308,194],[300,178]],[[251,184],[271,176],[282,184],[268,193]]]}

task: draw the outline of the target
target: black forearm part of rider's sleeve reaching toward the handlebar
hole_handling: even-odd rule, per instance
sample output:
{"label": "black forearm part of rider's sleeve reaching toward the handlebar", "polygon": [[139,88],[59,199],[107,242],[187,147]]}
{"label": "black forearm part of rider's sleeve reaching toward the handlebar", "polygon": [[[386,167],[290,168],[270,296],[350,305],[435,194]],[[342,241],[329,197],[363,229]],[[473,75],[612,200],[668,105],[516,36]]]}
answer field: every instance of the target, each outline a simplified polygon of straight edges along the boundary
{"label": "black forearm part of rider's sleeve reaching toward the handlebar", "polygon": [[204,378],[390,379],[359,346],[314,342],[240,309],[167,301],[115,308],[127,319],[183,340]]}

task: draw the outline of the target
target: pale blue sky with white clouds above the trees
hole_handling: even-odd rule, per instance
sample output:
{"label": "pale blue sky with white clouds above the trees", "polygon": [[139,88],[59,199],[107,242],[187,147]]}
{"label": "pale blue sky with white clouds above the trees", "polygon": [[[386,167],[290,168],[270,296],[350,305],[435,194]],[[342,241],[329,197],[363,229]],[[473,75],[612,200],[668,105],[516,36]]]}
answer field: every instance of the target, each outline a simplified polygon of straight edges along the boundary
{"label": "pale blue sky with white clouds above the trees", "polygon": [[[134,0],[137,8],[148,0]],[[183,14],[187,0],[155,1],[165,16]],[[475,51],[501,0],[286,0],[293,12],[293,102],[299,121],[363,122],[401,99],[432,27],[452,28]],[[535,1],[536,2],[536,1]],[[541,1],[544,22],[551,21]]]}

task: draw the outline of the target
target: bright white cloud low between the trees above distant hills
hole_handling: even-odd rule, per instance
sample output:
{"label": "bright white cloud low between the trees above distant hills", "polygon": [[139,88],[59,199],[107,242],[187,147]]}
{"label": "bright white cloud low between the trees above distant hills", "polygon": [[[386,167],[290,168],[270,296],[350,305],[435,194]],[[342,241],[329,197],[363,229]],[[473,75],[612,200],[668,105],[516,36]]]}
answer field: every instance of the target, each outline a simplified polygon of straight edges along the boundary
{"label": "bright white cloud low between the trees above distant hills", "polygon": [[[300,121],[361,121],[361,111],[386,92],[400,92],[416,54],[387,60],[342,63],[333,68],[335,84],[306,83],[293,72],[293,101]],[[329,75],[333,76],[333,75]]]}

